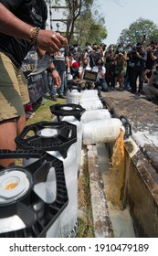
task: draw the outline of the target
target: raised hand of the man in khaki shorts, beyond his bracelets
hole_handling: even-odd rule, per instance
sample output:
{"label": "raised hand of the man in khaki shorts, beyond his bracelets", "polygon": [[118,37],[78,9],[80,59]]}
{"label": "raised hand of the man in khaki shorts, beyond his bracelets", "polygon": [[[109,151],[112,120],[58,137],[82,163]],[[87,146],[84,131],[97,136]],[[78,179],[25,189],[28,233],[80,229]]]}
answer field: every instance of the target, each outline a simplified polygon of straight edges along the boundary
{"label": "raised hand of the man in khaki shorts, beyond his bracelets", "polygon": [[52,30],[40,29],[37,35],[37,48],[41,48],[50,54],[57,52],[64,44],[67,44],[67,38]]}

